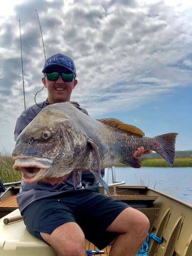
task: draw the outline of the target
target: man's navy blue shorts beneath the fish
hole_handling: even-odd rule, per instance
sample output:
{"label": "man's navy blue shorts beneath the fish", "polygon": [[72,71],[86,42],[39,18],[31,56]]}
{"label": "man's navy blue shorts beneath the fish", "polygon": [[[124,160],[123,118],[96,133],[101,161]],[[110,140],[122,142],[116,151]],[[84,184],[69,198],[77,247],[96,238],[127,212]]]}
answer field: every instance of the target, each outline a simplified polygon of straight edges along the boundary
{"label": "man's navy blue shorts beneath the fish", "polygon": [[75,222],[87,240],[103,249],[117,236],[117,233],[107,232],[106,228],[127,207],[129,205],[122,201],[87,188],[34,201],[22,215],[28,231],[41,240],[39,232],[50,234],[64,223]]}

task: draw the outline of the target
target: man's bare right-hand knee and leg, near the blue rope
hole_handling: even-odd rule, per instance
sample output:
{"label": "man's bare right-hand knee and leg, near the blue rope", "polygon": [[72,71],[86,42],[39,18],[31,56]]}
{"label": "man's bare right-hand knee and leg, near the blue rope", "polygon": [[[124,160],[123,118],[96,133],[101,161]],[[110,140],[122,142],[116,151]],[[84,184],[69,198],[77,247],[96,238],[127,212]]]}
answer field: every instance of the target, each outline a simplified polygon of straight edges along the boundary
{"label": "man's bare right-hand knee and leg, near the blue rope", "polygon": [[150,223],[147,217],[134,208],[124,209],[107,231],[120,233],[110,250],[110,256],[135,256],[147,237]]}

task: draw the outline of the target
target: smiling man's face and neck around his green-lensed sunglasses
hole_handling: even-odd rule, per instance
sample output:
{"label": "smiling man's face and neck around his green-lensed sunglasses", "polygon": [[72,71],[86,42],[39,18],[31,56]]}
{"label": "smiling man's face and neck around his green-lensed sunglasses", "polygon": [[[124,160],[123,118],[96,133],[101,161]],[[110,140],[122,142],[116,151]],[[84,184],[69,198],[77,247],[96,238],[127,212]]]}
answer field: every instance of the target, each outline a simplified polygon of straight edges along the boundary
{"label": "smiling man's face and neck around his green-lensed sunglasses", "polygon": [[[52,72],[67,73],[65,68],[55,66],[49,70]],[[69,73],[69,72],[68,72]],[[42,78],[42,83],[48,90],[48,102],[54,104],[58,102],[70,101],[71,93],[77,84],[77,79],[73,78],[71,82],[63,81],[61,75],[55,80],[50,81],[47,76]]]}

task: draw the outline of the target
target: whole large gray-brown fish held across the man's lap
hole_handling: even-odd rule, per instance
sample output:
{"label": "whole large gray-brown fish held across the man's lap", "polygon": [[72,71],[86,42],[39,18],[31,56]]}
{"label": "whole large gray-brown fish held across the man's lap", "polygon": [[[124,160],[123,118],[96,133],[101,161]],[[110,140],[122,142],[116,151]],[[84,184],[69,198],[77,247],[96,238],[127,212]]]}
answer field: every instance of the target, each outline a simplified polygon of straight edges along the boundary
{"label": "whole large gray-brown fish held across the man's lap", "polygon": [[13,168],[22,172],[26,183],[89,170],[109,192],[101,168],[118,163],[141,167],[140,158],[132,157],[140,146],[173,167],[176,136],[147,138],[136,126],[114,118],[94,120],[70,102],[56,103],[46,106],[18,136]]}

